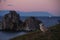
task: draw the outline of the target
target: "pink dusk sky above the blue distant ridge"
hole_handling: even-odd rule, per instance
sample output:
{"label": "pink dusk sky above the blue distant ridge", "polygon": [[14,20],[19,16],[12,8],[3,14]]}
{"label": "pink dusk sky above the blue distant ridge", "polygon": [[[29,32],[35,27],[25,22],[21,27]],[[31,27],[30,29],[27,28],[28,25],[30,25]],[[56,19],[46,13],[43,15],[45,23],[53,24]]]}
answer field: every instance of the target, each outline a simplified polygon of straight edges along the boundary
{"label": "pink dusk sky above the blue distant ridge", "polygon": [[42,11],[60,16],[60,0],[0,0],[0,10]]}

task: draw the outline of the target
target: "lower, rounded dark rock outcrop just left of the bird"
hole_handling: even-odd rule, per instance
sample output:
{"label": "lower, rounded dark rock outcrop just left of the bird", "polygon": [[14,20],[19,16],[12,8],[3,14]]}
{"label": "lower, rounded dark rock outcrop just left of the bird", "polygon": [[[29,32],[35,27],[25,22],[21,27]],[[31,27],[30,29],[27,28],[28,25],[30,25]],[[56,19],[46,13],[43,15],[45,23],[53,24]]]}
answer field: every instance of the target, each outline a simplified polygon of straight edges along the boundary
{"label": "lower, rounded dark rock outcrop just left of the bird", "polygon": [[40,20],[35,19],[35,17],[29,17],[24,21],[23,28],[27,31],[33,31],[39,29],[39,24],[42,23]]}

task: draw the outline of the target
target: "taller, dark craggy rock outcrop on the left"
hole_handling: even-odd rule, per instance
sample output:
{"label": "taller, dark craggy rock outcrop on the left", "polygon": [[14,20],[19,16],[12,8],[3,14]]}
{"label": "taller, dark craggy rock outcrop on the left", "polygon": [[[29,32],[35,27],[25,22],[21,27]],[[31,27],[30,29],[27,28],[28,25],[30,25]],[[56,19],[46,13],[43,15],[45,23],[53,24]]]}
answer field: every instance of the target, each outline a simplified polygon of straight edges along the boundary
{"label": "taller, dark craggy rock outcrop on the left", "polygon": [[16,11],[10,11],[8,14],[4,15],[2,20],[3,30],[17,31],[21,29],[21,25],[22,21]]}

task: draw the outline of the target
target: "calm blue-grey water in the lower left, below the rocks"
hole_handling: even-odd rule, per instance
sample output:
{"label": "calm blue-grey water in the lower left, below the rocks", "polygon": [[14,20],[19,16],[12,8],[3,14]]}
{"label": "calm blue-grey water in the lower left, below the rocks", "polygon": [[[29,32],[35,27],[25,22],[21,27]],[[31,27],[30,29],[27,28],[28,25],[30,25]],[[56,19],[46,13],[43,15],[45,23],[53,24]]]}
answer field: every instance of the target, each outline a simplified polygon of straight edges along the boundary
{"label": "calm blue-grey water in the lower left, below the rocks", "polygon": [[14,38],[16,36],[21,36],[26,34],[26,32],[17,32],[17,33],[7,33],[0,31],[0,40],[9,40],[11,38]]}

